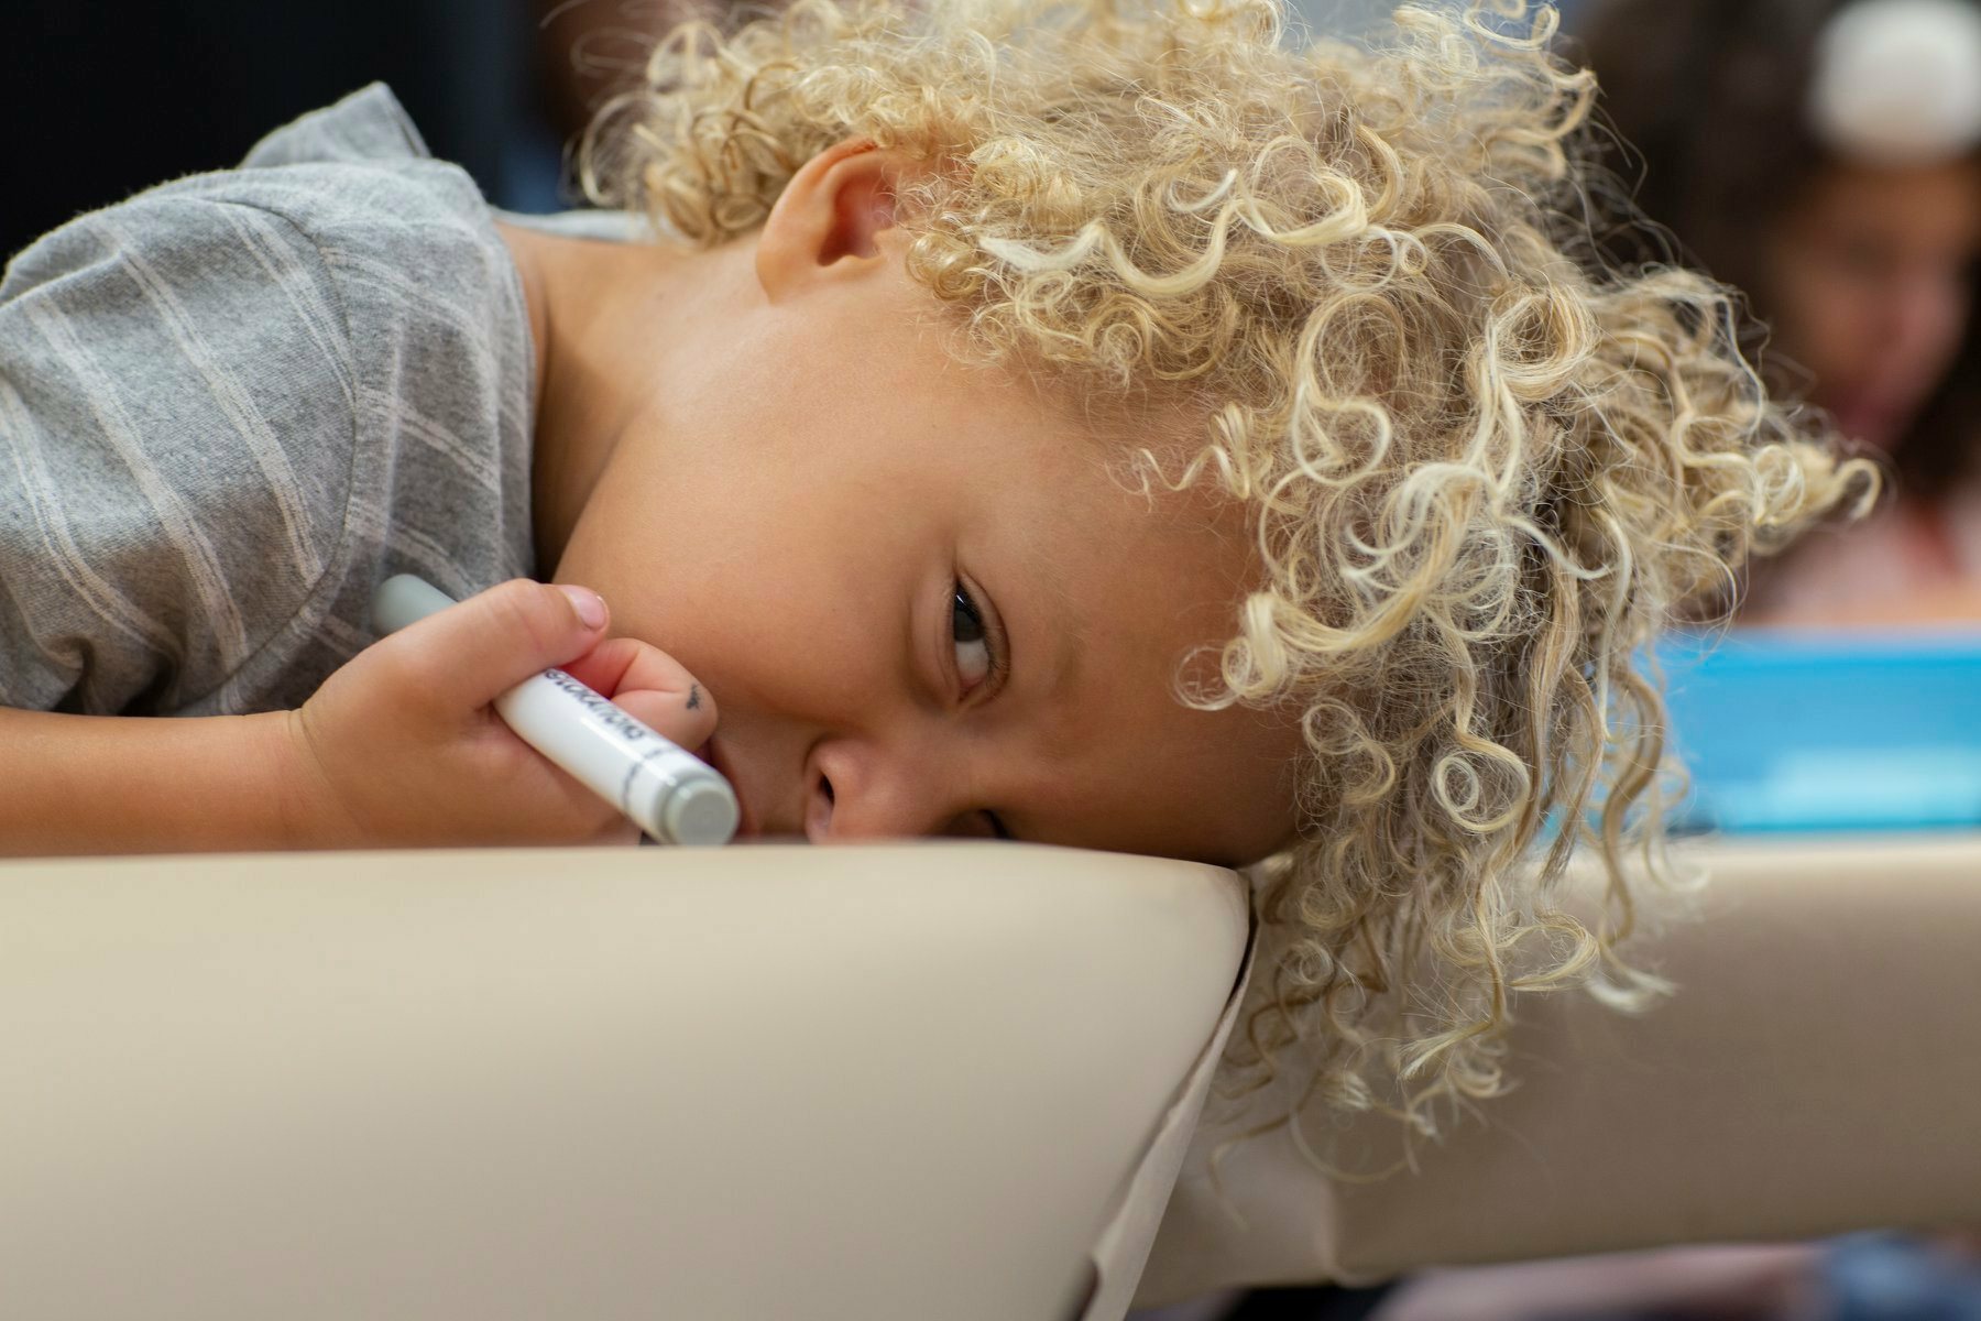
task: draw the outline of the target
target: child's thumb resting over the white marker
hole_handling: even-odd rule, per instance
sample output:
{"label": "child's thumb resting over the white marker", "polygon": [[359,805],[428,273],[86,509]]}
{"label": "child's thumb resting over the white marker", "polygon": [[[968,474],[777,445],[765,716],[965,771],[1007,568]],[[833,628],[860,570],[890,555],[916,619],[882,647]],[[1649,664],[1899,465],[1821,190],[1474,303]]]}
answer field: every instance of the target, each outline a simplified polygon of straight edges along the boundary
{"label": "child's thumb resting over the white marker", "polygon": [[533,673],[563,665],[606,630],[606,602],[590,588],[513,578],[448,606],[388,638],[402,644],[412,681],[483,707]]}

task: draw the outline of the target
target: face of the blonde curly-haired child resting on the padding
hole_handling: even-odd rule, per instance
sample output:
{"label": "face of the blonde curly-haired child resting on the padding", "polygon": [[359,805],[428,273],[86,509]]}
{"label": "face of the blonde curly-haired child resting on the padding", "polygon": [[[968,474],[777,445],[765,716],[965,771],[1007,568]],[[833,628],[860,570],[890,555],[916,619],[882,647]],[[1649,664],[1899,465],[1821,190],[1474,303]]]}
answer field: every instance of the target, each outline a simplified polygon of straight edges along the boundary
{"label": "face of the blonde curly-haired child resting on the padding", "polygon": [[897,271],[800,291],[672,362],[557,578],[713,693],[747,832],[1272,852],[1298,729],[1173,695],[1232,630],[1242,519],[1123,489],[1119,442],[955,364],[933,307]]}

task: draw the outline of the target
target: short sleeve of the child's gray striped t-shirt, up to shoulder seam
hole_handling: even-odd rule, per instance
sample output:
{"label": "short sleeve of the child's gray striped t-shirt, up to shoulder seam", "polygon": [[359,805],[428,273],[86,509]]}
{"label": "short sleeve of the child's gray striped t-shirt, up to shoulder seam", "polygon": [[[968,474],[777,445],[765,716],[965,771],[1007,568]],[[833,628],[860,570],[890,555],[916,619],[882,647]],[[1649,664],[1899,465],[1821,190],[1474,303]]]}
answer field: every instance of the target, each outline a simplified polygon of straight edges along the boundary
{"label": "short sleeve of the child's gray striped t-shirt, up to shoulder seam", "polygon": [[0,705],[196,701],[339,543],[357,382],[335,279],[226,192],[83,216],[0,281]]}

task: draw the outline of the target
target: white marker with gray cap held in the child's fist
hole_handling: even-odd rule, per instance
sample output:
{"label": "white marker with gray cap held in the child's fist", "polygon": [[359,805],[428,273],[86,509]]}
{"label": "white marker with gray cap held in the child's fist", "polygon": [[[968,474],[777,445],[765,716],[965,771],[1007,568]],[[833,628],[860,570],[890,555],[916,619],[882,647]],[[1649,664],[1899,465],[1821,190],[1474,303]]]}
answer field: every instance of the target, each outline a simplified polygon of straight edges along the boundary
{"label": "white marker with gray cap held in the child's fist", "polygon": [[[454,598],[398,574],[372,592],[372,626],[406,628]],[[509,729],[662,844],[729,844],[737,796],[715,766],[660,737],[563,669],[545,669],[495,699]]]}

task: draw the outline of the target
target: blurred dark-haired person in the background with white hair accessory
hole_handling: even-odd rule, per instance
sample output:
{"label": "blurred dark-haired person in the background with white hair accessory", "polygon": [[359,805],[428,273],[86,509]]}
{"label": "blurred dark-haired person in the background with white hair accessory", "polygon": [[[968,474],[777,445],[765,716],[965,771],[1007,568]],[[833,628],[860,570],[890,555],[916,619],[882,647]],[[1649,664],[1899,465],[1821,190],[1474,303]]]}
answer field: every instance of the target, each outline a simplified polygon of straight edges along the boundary
{"label": "blurred dark-haired person in the background with white hair accessory", "polygon": [[1981,4],[1589,0],[1573,18],[1624,186],[1678,259],[1751,297],[1777,384],[1801,380],[1896,473],[1868,525],[1757,576],[1747,618],[1981,620]]}

